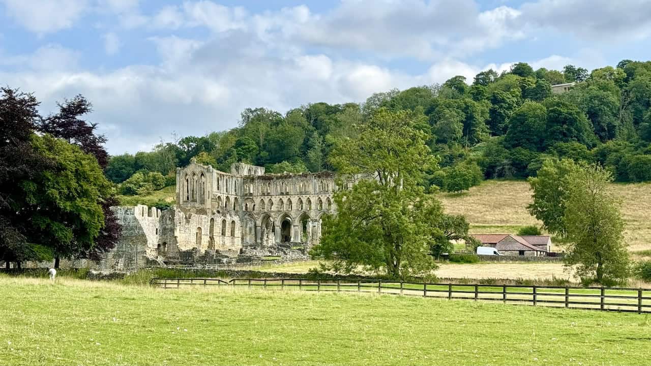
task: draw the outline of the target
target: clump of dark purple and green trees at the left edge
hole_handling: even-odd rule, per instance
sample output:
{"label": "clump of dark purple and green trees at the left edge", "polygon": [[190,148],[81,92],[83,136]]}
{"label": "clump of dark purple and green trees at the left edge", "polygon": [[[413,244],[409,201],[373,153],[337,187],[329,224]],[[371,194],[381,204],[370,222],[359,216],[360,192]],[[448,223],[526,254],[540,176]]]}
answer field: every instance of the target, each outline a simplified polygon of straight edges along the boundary
{"label": "clump of dark purple and green trees at the left edge", "polygon": [[33,94],[0,89],[0,259],[99,260],[121,227],[103,135],[83,120],[83,96],[39,115]]}

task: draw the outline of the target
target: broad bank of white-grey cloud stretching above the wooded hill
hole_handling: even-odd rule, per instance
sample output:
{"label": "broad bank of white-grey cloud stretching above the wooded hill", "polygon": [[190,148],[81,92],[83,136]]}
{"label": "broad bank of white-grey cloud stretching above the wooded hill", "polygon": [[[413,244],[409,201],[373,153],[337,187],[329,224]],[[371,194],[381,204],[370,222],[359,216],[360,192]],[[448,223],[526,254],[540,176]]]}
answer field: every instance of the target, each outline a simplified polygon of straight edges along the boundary
{"label": "broad bank of white-grey cloud stretching above the wooded hill", "polygon": [[[472,61],[471,55],[529,36],[528,29],[551,24],[542,19],[552,14],[532,18],[533,5],[482,11],[471,0],[343,1],[322,14],[304,5],[251,14],[201,0],[143,15],[137,0],[88,1],[94,5],[66,10],[68,16],[31,27],[43,15],[21,18],[16,9],[27,12],[24,3],[32,3],[5,3],[14,6],[8,14],[27,19],[21,24],[37,33],[72,27],[87,13],[115,16],[117,26],[101,27],[106,53],[124,47],[120,53],[126,54],[132,42],[122,46],[120,40],[141,36],[154,44],[159,61],[90,71],[80,68],[79,53],[57,44],[27,55],[5,55],[0,49],[0,80],[35,91],[45,113],[56,100],[84,94],[94,104],[90,119],[109,137],[113,154],[148,148],[173,131],[201,135],[232,128],[247,107],[284,112],[311,102],[363,102],[374,92],[443,83],[456,75],[471,83],[482,70],[501,72],[511,65]],[[85,5],[81,0],[60,3]],[[587,27],[574,23],[579,31]],[[141,28],[125,31],[120,26]],[[206,36],[189,27],[209,32]],[[418,59],[419,70],[404,66],[402,59]],[[513,61],[556,69],[568,63],[586,68],[605,64],[600,53],[588,48]]]}

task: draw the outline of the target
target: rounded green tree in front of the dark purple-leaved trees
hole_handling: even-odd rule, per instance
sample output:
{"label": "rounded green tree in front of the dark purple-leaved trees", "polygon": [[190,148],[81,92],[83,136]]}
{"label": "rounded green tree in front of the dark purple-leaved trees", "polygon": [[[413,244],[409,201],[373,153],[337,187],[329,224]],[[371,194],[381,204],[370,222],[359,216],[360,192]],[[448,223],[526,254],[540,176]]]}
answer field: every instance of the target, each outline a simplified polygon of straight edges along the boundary
{"label": "rounded green tree in front of the dark purple-leaved trees", "polygon": [[19,184],[26,234],[57,258],[83,257],[105,229],[103,203],[111,198],[112,185],[94,156],[76,145],[51,135],[33,135],[32,141],[53,166]]}

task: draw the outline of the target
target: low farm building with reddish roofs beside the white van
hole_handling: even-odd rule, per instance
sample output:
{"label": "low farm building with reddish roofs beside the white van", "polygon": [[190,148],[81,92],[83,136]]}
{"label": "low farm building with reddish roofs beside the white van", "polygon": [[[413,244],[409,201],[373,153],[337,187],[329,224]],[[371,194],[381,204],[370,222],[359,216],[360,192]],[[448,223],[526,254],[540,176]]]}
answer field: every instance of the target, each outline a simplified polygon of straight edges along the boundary
{"label": "low farm building with reddish roofs beside the white van", "polygon": [[544,257],[551,249],[551,238],[542,235],[473,234],[482,246],[494,247],[503,255]]}

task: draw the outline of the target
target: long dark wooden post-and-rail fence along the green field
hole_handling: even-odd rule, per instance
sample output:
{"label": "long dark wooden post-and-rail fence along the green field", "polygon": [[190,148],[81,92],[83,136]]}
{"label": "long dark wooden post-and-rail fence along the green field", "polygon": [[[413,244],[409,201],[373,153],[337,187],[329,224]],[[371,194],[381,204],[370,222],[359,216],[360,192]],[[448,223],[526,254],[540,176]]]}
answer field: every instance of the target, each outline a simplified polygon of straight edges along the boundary
{"label": "long dark wooden post-and-rail fence along the green field", "polygon": [[223,279],[154,278],[152,286],[163,289],[230,286],[305,291],[376,292],[380,294],[424,296],[426,298],[464,299],[525,303],[535,306],[573,309],[651,313],[651,289],[625,287],[562,287],[527,285],[458,285],[453,283],[416,283],[372,279]]}

